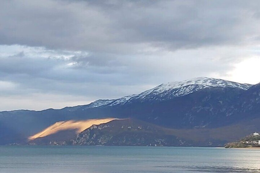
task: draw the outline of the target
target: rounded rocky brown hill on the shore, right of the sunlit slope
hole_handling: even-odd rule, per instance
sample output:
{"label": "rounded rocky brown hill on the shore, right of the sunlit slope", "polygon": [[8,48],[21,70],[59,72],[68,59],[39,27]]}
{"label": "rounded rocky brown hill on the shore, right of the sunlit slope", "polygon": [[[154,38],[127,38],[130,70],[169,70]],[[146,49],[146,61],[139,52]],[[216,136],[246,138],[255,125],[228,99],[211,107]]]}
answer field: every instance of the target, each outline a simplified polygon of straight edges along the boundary
{"label": "rounded rocky brown hill on the shore, right of the sunlit slope", "polygon": [[[70,141],[72,145],[188,146],[164,128],[132,119],[93,125]],[[69,143],[70,144],[70,143]]]}

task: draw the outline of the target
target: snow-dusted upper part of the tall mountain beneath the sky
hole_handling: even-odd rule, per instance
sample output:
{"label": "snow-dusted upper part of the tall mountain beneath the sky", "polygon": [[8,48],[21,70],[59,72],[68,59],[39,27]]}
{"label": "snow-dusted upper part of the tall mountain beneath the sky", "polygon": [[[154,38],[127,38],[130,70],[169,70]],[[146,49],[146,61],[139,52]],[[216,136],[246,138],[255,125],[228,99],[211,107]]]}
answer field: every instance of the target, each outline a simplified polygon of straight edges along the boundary
{"label": "snow-dusted upper part of the tall mountain beneath the sky", "polygon": [[251,86],[251,84],[240,84],[222,79],[197,77],[181,82],[170,82],[167,84],[161,84],[140,94],[129,95],[113,100],[96,100],[95,102],[92,102],[88,105],[67,107],[66,109],[69,111],[75,111],[78,109],[85,110],[88,108],[101,106],[124,105],[133,102],[170,100],[174,97],[185,96],[187,94],[209,87],[231,87],[247,90]]}

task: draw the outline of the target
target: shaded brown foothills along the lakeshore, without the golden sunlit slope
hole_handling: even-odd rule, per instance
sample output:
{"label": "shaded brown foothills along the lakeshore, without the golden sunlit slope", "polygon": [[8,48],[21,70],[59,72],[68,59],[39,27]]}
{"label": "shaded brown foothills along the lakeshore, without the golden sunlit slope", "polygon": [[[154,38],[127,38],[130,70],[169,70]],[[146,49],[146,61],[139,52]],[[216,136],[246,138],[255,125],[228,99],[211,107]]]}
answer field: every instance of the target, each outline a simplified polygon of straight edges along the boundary
{"label": "shaded brown foothills along the lakeshore, without the golden sunlit slope", "polygon": [[[260,118],[213,129],[170,129],[136,119],[93,125],[78,135],[64,130],[28,141],[39,145],[224,146],[254,131]],[[239,132],[239,133],[238,133]]]}

